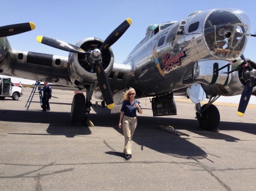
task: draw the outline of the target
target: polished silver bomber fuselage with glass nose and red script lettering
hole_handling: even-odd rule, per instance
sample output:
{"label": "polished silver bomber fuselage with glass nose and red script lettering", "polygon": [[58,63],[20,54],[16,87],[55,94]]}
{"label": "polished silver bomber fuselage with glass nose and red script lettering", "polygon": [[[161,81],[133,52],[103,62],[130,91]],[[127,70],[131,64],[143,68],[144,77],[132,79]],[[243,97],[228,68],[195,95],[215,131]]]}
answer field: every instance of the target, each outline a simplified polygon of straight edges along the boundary
{"label": "polished silver bomber fuselage with glass nose and red script lettering", "polygon": [[114,63],[113,71],[126,71],[123,82],[130,81],[145,95],[184,92],[192,83],[225,85],[231,78],[229,68],[212,83],[214,63],[220,68],[240,57],[249,37],[250,19],[241,10],[197,12],[179,22],[159,24],[123,64]]}

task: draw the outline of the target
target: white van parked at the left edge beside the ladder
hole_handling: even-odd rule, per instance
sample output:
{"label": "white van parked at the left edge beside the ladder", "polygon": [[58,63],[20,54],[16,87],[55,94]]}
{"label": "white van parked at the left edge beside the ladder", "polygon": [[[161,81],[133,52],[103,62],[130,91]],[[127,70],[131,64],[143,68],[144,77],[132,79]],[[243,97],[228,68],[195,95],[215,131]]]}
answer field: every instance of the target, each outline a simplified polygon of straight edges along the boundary
{"label": "white van parked at the left edge beside the ladder", "polygon": [[12,97],[13,100],[18,100],[22,95],[22,88],[14,86],[11,78],[0,78],[0,100],[5,99],[5,97]]}

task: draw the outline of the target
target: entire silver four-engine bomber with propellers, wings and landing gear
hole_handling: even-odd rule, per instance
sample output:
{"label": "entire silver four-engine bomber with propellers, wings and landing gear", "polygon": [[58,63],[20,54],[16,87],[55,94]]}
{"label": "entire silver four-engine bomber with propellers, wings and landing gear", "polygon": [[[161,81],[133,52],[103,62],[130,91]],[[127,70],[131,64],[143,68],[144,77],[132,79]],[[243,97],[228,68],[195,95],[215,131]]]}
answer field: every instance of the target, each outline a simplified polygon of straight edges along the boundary
{"label": "entire silver four-engine bomber with propellers, wings and landing gear", "polygon": [[[174,96],[195,104],[203,129],[217,131],[220,96],[241,94],[243,116],[256,92],[256,63],[243,56],[251,35],[250,18],[237,9],[196,11],[180,21],[151,24],[146,36],[123,63],[114,63],[112,46],[131,25],[126,19],[105,39],[88,37],[76,45],[38,36],[39,43],[69,52],[68,57],[11,49],[6,36],[35,28],[34,23],[0,27],[0,74],[47,81],[86,92],[73,97],[71,120],[81,124],[92,95],[101,92],[112,113],[120,111],[122,93],[133,87],[152,98],[153,116],[177,114]],[[205,98],[208,104],[200,104]]]}

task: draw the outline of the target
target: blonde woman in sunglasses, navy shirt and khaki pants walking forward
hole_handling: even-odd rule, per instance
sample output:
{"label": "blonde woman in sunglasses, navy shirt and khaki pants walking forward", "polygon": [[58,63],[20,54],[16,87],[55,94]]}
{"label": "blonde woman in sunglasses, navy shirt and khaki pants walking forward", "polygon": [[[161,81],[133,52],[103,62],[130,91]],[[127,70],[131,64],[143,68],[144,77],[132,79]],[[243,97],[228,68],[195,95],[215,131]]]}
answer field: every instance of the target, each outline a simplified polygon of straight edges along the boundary
{"label": "blonde woman in sunglasses, navy shirt and khaki pants walking forward", "polygon": [[137,127],[136,112],[138,111],[142,114],[141,103],[134,99],[135,94],[134,88],[129,88],[123,95],[123,104],[118,124],[119,129],[123,128],[123,135],[125,136],[125,148],[123,152],[126,160],[131,158],[131,139]]}

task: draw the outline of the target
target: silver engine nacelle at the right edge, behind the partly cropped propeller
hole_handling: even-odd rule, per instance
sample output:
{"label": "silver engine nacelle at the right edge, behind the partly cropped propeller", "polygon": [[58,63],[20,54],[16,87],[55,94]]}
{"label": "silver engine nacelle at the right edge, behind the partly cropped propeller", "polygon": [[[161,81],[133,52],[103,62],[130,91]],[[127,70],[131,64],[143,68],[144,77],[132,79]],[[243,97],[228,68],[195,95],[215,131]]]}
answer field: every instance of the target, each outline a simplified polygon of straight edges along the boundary
{"label": "silver engine nacelle at the right edge, behind the partly cropped propeller", "polygon": [[[250,66],[256,70],[256,63],[253,60],[246,59],[247,62],[250,62]],[[236,69],[237,67],[243,65],[243,60],[237,60],[237,62],[232,64],[232,70]],[[249,80],[250,75],[249,71],[246,70],[246,67],[240,69],[238,71],[234,71],[231,74],[231,80],[227,86],[225,86],[225,90],[228,92],[228,95],[240,95],[242,94],[243,88],[245,87],[246,80]],[[253,84],[253,92],[256,91],[256,83],[254,80]]]}

